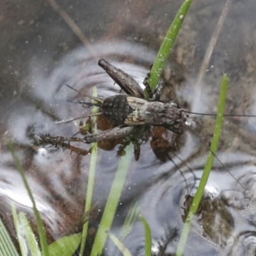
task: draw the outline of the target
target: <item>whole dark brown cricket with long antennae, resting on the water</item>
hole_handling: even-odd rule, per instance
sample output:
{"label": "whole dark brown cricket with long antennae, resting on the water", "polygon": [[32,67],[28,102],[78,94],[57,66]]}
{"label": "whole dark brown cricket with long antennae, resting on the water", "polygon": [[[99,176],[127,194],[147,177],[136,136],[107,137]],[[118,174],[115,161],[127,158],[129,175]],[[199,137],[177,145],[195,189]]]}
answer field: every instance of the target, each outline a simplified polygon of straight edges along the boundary
{"label": "whole dark brown cricket with long antennae, resting on the water", "polygon": [[[132,142],[134,144],[134,159],[138,161],[138,159],[140,159],[140,145],[148,140],[153,127],[164,127],[175,134],[183,134],[184,128],[187,127],[189,131],[193,132],[193,134],[202,141],[205,147],[208,147],[207,143],[201,140],[200,136],[198,136],[198,134],[196,134],[196,132],[188,125],[188,114],[192,112],[180,108],[179,104],[173,100],[168,102],[161,101],[163,83],[159,83],[155,92],[152,92],[147,82],[148,76],[146,76],[143,81],[143,84],[145,85],[145,93],[140,84],[138,84],[132,76],[125,73],[123,70],[114,67],[104,59],[100,59],[98,64],[106,71],[113,81],[120,86],[121,91],[124,91],[125,93],[119,93],[117,95],[107,97],[106,99],[100,99],[98,97],[93,97],[92,95],[79,92],[67,84],[70,89],[77,93],[81,93],[81,95],[94,101],[88,102],[78,100],[77,102],[79,104],[87,107],[97,106],[99,107],[99,112],[86,116],[79,116],[77,118],[71,118],[69,120],[62,120],[58,123],[67,123],[79,118],[102,115],[109,121],[113,122],[115,127],[96,134],[86,134],[84,138],[68,138],[62,136],[54,137],[50,134],[40,134],[39,139],[36,141],[37,145],[49,144],[55,147],[59,146],[63,149],[68,148],[71,152],[74,151],[77,154],[86,155],[90,153],[90,150],[75,147],[70,145],[70,142],[76,141],[81,143],[93,143],[106,140],[124,139],[124,145],[122,145],[118,151],[122,152],[125,146]],[[149,99],[147,99],[146,95],[149,96]],[[200,115],[200,113],[193,114]],[[211,149],[209,148],[209,150]],[[215,154],[214,156],[220,162],[221,166],[227,170],[224,164],[221,163],[220,159],[218,159]],[[172,160],[171,157],[169,157],[169,159]],[[227,172],[230,173],[228,170]],[[230,173],[230,175],[232,175],[232,173]]]}

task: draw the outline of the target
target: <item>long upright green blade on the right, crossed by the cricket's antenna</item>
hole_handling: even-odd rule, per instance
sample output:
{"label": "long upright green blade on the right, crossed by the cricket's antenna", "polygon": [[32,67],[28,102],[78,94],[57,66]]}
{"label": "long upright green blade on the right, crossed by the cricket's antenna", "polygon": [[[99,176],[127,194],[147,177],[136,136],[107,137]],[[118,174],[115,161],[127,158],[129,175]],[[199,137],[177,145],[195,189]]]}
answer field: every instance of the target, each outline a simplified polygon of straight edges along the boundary
{"label": "long upright green blade on the right, crossed by the cricket's antenna", "polygon": [[221,128],[222,128],[222,124],[223,124],[223,113],[225,111],[225,104],[226,104],[226,99],[227,99],[227,88],[228,88],[228,76],[227,76],[227,74],[225,74],[221,81],[220,98],[219,98],[218,110],[217,110],[218,115],[216,117],[214,135],[213,135],[211,147],[210,147],[211,151],[209,153],[209,156],[207,157],[207,162],[204,167],[204,172],[202,174],[202,178],[200,179],[198,189],[196,190],[196,195],[195,195],[193,202],[191,204],[191,207],[189,209],[188,216],[186,218],[186,223],[184,224],[182,234],[180,236],[180,241],[178,244],[176,256],[183,255],[184,248],[186,246],[186,241],[188,239],[189,230],[191,227],[191,220],[196,214],[198,206],[201,202],[201,198],[204,194],[204,188],[206,186],[207,180],[211,173],[212,164],[214,161],[214,154],[216,154],[219,140],[220,140],[220,135],[221,135]]}

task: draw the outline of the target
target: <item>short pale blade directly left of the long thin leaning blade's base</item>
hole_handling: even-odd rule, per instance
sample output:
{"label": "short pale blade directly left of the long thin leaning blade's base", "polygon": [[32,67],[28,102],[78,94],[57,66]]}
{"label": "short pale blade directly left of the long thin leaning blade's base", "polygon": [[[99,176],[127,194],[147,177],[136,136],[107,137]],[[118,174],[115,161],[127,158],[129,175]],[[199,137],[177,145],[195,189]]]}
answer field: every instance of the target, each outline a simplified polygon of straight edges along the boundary
{"label": "short pale blade directly left of the long thin leaning blade's base", "polygon": [[20,226],[24,230],[26,241],[28,242],[29,250],[33,256],[41,256],[40,248],[36,241],[35,234],[31,228],[28,218],[24,212],[19,212]]}

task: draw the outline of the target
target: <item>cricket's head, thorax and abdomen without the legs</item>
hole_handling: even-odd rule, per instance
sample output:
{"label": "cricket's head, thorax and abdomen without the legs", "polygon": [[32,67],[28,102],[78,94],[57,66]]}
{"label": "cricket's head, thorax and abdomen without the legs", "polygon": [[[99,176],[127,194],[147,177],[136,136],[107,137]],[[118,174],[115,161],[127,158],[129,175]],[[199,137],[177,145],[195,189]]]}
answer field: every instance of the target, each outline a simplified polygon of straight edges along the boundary
{"label": "cricket's head, thorax and abdomen without the legs", "polygon": [[163,125],[180,134],[182,129],[174,126],[187,117],[176,102],[148,101],[128,95],[108,97],[101,108],[102,115],[116,125]]}

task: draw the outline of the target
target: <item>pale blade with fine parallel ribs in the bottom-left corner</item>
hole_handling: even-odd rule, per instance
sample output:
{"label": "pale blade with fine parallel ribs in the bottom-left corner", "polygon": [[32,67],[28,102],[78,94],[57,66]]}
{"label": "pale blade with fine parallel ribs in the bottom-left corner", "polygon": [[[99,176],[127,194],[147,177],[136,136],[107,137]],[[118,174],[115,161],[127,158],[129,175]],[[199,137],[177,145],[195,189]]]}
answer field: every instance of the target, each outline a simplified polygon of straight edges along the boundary
{"label": "pale blade with fine parallel ribs in the bottom-left corner", "polygon": [[0,255],[3,256],[19,256],[11,237],[0,219]]}

